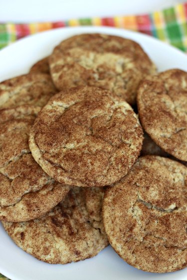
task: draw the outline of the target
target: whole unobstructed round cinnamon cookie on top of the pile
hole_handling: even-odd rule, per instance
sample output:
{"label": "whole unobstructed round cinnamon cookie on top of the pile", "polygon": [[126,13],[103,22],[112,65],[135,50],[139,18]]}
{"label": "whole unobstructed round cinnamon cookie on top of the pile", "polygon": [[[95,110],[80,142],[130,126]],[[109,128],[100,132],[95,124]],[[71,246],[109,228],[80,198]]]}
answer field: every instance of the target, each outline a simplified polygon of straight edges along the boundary
{"label": "whole unobstructed round cinnamon cookie on top of the pile", "polygon": [[142,147],[128,103],[95,87],[56,94],[40,111],[29,147],[42,169],[71,186],[110,185],[127,174]]}

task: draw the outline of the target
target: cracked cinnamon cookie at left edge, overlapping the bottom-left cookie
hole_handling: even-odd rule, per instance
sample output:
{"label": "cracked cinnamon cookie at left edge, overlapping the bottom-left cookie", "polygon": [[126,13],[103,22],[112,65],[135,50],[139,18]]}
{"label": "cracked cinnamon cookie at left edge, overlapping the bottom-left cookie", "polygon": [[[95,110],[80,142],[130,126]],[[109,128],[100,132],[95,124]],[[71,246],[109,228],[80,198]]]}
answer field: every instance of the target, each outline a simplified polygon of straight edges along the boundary
{"label": "cracked cinnamon cookie at left edge, overlapping the bottom-left cookie", "polygon": [[0,220],[37,218],[70,189],[44,173],[29,150],[28,134],[39,110],[26,105],[0,110]]}

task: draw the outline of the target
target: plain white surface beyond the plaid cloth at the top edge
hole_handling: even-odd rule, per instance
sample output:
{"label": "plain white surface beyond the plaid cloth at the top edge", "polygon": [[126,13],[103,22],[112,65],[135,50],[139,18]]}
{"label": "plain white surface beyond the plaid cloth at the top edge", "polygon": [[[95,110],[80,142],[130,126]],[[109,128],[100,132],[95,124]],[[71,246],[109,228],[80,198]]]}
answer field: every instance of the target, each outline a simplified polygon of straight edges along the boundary
{"label": "plain white surface beyond the plaid cloth at the top edge", "polygon": [[150,13],[185,0],[0,0],[0,21],[59,21]]}

